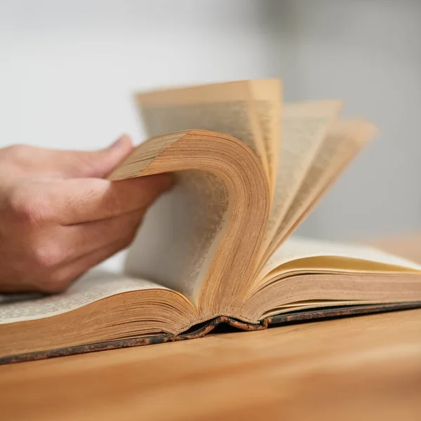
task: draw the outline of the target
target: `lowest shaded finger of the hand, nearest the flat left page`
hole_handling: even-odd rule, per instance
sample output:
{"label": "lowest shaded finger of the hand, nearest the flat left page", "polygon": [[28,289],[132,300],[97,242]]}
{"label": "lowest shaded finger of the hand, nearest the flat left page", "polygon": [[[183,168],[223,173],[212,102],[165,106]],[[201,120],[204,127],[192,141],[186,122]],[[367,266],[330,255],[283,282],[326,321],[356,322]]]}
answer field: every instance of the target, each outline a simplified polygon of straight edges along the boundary
{"label": "lowest shaded finger of the hand, nearest the flat left page", "polygon": [[105,248],[95,250],[88,255],[84,255],[81,258],[74,260],[69,265],[64,265],[58,268],[51,276],[47,285],[44,285],[44,291],[48,293],[58,293],[65,290],[74,280],[79,278],[92,267],[99,265],[107,258],[118,251],[126,248],[127,243],[123,240],[116,241],[115,243],[109,244]]}

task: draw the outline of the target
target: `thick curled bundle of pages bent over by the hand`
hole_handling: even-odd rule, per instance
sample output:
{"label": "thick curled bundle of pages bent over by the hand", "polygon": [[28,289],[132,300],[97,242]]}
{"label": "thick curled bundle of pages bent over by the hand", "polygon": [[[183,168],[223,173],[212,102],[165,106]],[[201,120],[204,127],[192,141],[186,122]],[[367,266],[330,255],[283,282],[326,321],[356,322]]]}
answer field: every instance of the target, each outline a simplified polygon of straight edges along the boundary
{"label": "thick curled bundle of pages bent over by the hand", "polygon": [[262,166],[239,140],[194,130],[141,144],[110,178],[166,172],[178,184],[149,209],[125,272],[177,290],[203,317],[235,315],[258,272],[269,214]]}

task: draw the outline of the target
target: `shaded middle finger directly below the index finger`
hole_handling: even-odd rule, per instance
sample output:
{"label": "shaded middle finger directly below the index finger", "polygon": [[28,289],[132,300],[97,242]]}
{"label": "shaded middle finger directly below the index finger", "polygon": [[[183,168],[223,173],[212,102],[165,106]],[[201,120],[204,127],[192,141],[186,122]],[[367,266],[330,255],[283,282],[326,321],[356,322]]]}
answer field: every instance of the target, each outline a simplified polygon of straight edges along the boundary
{"label": "shaded middle finger directly below the index finger", "polygon": [[119,241],[130,243],[144,214],[144,210],[134,210],[114,218],[59,227],[57,236],[67,244],[62,263],[67,264]]}

